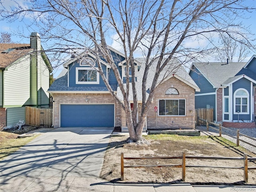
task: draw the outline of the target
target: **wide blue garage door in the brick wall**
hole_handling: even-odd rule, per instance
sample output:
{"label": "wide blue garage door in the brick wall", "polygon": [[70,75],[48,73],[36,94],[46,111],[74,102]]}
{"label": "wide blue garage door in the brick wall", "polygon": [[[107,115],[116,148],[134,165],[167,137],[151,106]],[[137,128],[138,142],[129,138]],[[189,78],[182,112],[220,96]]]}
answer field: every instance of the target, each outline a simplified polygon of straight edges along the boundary
{"label": "wide blue garage door in the brick wall", "polygon": [[61,127],[114,127],[114,105],[60,105]]}

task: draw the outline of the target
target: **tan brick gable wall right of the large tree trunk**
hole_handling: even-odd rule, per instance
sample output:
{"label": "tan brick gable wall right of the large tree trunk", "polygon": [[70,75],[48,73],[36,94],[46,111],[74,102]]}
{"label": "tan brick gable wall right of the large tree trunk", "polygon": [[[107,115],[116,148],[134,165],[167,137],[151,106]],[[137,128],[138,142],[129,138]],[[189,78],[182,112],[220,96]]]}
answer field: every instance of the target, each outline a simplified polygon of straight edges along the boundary
{"label": "tan brick gable wall right of the large tree trunk", "polygon": [[[176,88],[179,92],[178,95],[166,95],[165,92],[168,88]],[[159,99],[185,99],[186,100],[186,116],[159,116],[158,112],[154,111],[154,107],[158,106]],[[190,112],[192,110],[192,112]],[[194,129],[195,128],[195,90],[176,79],[170,78],[162,83],[155,90],[153,103],[147,116],[148,128],[173,128],[173,129]]]}

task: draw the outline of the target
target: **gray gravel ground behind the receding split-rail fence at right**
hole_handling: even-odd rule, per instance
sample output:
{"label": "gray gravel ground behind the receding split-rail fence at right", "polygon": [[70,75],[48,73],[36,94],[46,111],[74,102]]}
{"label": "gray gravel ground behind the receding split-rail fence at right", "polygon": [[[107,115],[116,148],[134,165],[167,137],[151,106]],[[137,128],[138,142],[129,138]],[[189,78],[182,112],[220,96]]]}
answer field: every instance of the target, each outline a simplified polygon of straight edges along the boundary
{"label": "gray gravel ground behind the receding split-rail fence at right", "polygon": [[[216,127],[216,128],[218,128],[218,127]],[[217,130],[212,129],[212,128],[209,128],[209,131],[207,131],[206,126],[197,126],[196,129],[201,131],[201,135],[214,135],[214,136],[219,135],[219,132]],[[236,137],[236,131],[238,129],[237,128],[228,128],[228,129],[223,129],[223,131]],[[244,135],[247,135],[247,136],[250,136],[250,137],[256,139],[256,128],[241,128],[241,129],[239,129],[239,132],[244,134]],[[236,143],[236,139],[225,135],[223,132],[222,132],[222,137],[230,140],[231,142]],[[251,140],[251,139],[249,139],[247,137],[244,137],[244,136],[240,136],[239,138],[244,140],[244,141],[247,141],[251,144],[254,144],[256,146],[256,141],[254,141],[254,140]],[[256,147],[248,145],[248,144],[246,144],[242,141],[240,141],[239,144],[240,144],[240,146],[242,146],[242,147],[246,148],[247,150],[256,154]]]}

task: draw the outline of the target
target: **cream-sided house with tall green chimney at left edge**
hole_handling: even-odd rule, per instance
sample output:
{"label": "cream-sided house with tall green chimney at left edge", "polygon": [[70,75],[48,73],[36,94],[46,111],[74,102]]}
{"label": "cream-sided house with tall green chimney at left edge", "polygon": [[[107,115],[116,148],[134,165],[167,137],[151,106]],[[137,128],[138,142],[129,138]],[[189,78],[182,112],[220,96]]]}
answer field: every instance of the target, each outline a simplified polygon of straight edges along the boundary
{"label": "cream-sided house with tall green chimney at left edge", "polygon": [[0,58],[0,124],[25,121],[25,106],[49,107],[52,67],[39,34],[30,35],[30,44],[0,44]]}

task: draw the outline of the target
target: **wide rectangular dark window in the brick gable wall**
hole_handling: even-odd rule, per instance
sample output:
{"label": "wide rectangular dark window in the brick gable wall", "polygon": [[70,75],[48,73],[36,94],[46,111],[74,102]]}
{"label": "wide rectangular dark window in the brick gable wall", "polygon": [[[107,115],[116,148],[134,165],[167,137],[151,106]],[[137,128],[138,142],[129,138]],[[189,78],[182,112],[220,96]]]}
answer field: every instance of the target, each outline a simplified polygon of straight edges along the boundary
{"label": "wide rectangular dark window in the brick gable wall", "polygon": [[160,99],[158,106],[160,116],[185,115],[185,99]]}

